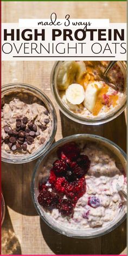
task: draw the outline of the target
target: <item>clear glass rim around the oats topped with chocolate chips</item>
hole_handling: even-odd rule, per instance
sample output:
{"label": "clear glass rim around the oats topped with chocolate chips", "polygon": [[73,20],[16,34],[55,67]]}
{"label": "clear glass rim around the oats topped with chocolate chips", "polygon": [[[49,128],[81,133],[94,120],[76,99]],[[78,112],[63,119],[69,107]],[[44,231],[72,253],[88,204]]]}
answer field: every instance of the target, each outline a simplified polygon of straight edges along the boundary
{"label": "clear glass rim around the oats topped with chocolate chips", "polygon": [[50,145],[52,145],[56,135],[56,130],[57,130],[57,115],[56,115],[55,107],[52,101],[49,99],[49,97],[43,91],[41,91],[39,88],[35,86],[29,85],[29,84],[23,84],[20,82],[17,82],[17,83],[15,82],[15,83],[3,85],[1,88],[1,92],[4,95],[4,93],[6,92],[8,93],[10,89],[12,91],[16,87],[26,89],[28,90],[28,93],[30,92],[35,93],[36,97],[41,99],[44,105],[47,106],[48,110],[50,110],[50,113],[52,114],[52,120],[53,120],[52,131],[51,131],[49,140],[43,147],[40,147],[38,150],[36,150],[34,153],[31,153],[30,155],[29,154],[19,155],[19,156],[12,155],[12,157],[10,155],[9,157],[2,156],[3,162],[21,164],[21,163],[28,163],[40,157],[50,147]]}

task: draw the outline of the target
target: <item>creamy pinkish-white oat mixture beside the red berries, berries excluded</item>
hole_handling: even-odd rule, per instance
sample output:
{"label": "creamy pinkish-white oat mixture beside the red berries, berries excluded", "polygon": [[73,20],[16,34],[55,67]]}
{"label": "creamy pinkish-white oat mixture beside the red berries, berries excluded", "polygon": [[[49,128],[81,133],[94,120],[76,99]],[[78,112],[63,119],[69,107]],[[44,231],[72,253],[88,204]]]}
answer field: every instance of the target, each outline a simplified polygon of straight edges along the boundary
{"label": "creamy pinkish-white oat mixture beside the red berries, berries excluded", "polygon": [[[81,155],[87,155],[91,161],[85,175],[86,193],[76,203],[73,216],[62,216],[58,209],[51,212],[47,210],[52,222],[55,220],[63,227],[74,230],[107,226],[118,216],[122,206],[126,212],[126,200],[117,190],[118,183],[126,191],[126,177],[119,159],[104,146],[96,143],[87,143],[85,147],[81,145],[81,149]],[[56,157],[48,161],[48,167],[46,165],[45,169],[52,168],[55,159]],[[97,198],[96,208],[88,204],[92,197]]]}

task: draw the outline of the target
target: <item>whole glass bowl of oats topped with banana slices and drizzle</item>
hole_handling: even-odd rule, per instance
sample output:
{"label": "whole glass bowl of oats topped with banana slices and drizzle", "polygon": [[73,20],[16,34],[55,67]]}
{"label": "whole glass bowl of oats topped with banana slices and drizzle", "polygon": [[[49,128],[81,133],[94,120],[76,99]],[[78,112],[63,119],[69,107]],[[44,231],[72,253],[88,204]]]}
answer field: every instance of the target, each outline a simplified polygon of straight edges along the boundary
{"label": "whole glass bowl of oats topped with banana slices and drizzle", "polygon": [[126,107],[126,63],[118,61],[104,78],[108,61],[57,61],[51,73],[55,100],[81,124],[106,123]]}

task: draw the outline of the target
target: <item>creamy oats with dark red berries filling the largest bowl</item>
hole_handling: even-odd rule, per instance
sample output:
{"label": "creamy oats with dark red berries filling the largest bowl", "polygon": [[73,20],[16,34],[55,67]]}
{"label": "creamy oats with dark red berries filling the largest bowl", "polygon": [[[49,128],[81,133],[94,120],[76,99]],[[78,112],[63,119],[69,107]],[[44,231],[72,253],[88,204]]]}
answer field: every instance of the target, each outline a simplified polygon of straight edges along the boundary
{"label": "creamy oats with dark red berries filling the largest bowl", "polygon": [[71,142],[47,159],[37,200],[56,225],[74,231],[105,227],[126,210],[117,183],[126,191],[123,164],[112,151],[99,143]]}

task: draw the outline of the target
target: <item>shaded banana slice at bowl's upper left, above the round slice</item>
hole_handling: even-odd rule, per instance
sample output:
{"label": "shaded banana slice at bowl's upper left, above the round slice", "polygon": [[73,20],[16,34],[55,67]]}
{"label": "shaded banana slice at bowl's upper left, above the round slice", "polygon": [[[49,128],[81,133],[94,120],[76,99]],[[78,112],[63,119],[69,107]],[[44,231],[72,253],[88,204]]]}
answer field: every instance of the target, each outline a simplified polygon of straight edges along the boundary
{"label": "shaded banana slice at bowl's upper left, above the round slice", "polygon": [[60,90],[65,90],[74,81],[78,65],[75,61],[64,61],[57,74],[57,86]]}

